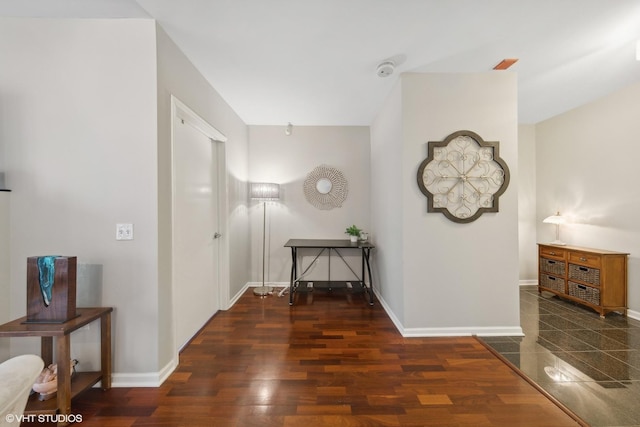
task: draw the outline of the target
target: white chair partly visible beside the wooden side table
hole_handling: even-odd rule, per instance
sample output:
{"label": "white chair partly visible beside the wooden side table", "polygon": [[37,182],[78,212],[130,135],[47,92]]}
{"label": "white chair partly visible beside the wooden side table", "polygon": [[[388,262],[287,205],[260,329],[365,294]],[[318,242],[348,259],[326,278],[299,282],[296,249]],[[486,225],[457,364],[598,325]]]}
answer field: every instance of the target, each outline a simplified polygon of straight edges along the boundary
{"label": "white chair partly visible beside the wooden side table", "polygon": [[0,363],[0,427],[19,426],[33,382],[44,368],[39,356],[25,354]]}

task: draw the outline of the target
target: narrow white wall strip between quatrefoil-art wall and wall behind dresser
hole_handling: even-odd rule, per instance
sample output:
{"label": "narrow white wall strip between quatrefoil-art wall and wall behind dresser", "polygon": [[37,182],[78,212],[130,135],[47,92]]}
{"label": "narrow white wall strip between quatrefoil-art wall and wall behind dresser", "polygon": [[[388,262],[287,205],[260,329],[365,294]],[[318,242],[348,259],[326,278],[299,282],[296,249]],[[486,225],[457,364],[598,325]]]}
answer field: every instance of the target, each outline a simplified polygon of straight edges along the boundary
{"label": "narrow white wall strip between quatrefoil-art wall and wall behind dresser", "polygon": [[536,230],[536,129],[518,126],[518,244],[520,284],[538,283]]}

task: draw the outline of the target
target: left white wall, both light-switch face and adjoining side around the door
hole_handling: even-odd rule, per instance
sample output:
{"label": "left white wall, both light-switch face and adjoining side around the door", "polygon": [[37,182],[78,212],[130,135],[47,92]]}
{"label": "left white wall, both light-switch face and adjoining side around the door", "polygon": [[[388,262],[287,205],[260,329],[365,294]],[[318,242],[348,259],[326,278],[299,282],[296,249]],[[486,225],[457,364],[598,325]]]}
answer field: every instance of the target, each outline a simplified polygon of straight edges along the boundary
{"label": "left white wall, both light-switch face and adjoining side around the door", "polygon": [[[152,385],[175,362],[170,97],[228,137],[231,296],[249,280],[247,127],[152,20],[5,19],[0,57],[13,64],[0,69],[10,315],[25,314],[27,256],[76,255],[79,293],[115,307],[114,384]],[[134,223],[133,241],[115,241],[118,222]],[[99,363],[96,333],[72,337],[85,368]],[[11,351],[39,351],[27,341]]]}

